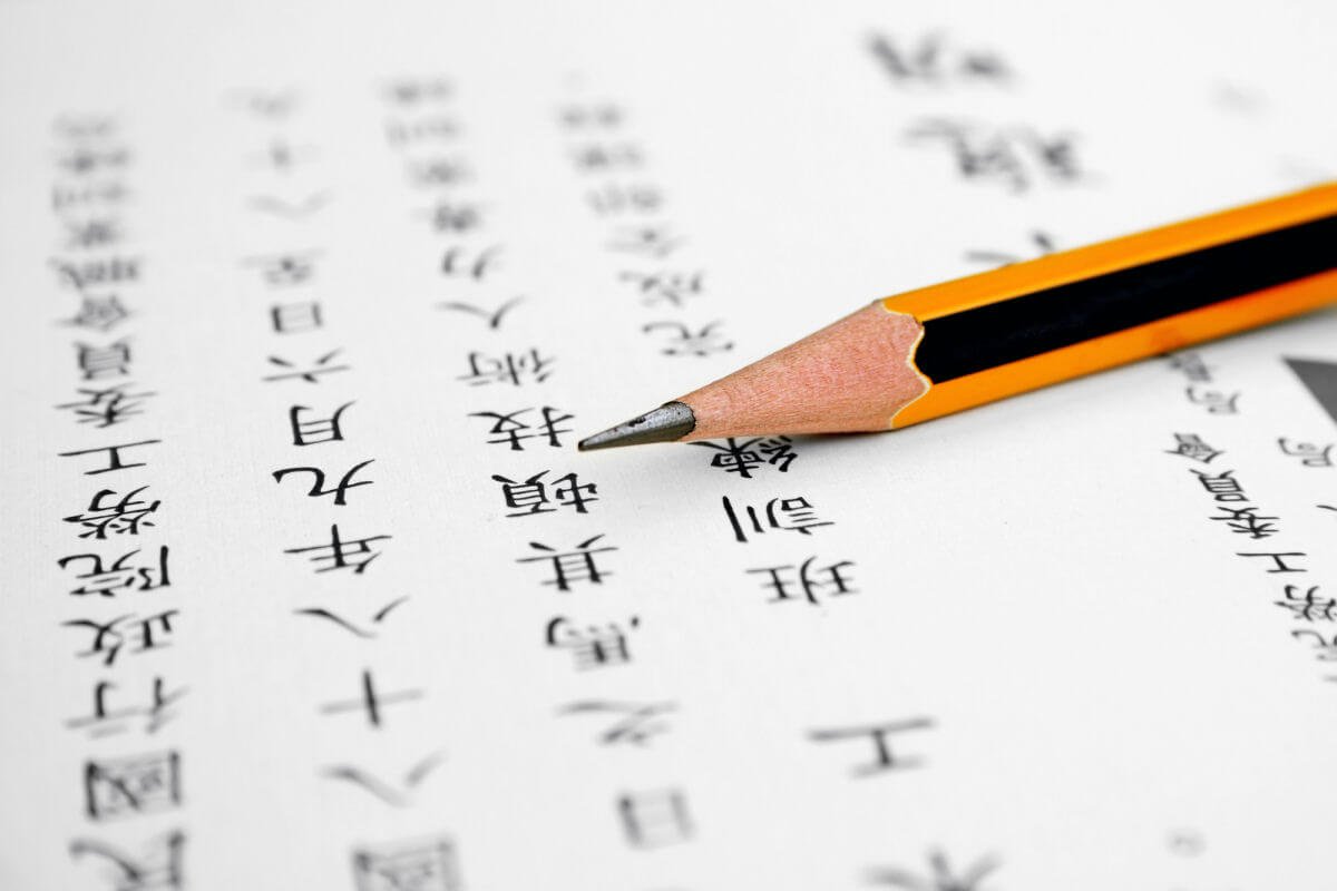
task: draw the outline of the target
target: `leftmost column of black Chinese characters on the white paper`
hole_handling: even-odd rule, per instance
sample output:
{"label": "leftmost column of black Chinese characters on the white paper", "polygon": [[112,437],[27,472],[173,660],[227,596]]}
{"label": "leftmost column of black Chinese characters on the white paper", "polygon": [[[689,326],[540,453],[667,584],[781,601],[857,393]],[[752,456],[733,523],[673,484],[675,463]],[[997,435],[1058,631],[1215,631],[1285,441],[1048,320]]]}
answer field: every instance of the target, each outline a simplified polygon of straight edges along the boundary
{"label": "leftmost column of black Chinese characters on the white paper", "polygon": [[[53,562],[78,604],[62,625],[78,636],[75,656],[91,669],[86,699],[71,707],[66,727],[88,741],[78,781],[84,818],[102,828],[182,810],[182,755],[171,732],[159,732],[176,717],[186,687],[159,664],[180,610],[167,590],[176,580],[160,529],[163,502],[146,469],[164,454],[146,417],[156,393],[135,365],[144,258],[126,212],[134,152],[110,115],[63,116],[53,131],[59,235],[51,267],[76,301],[59,319],[76,331],[76,374],[72,393],[55,406],[71,446],[57,458],[62,470],[92,477],[88,498],[63,518],[71,546]],[[114,882],[110,887],[182,887],[179,827],[156,822],[130,848],[124,839],[80,835],[68,852],[80,872]]]}

